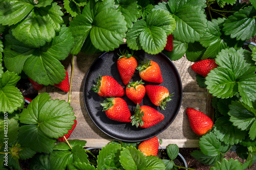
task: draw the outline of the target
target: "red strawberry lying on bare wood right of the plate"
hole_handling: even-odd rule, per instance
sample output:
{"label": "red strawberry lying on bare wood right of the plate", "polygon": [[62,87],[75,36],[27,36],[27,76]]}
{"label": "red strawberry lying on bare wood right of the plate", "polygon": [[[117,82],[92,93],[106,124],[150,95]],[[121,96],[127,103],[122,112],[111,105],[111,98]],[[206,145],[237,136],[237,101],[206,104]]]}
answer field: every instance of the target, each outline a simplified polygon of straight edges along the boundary
{"label": "red strawberry lying on bare wood right of the plate", "polygon": [[203,135],[214,126],[214,123],[206,114],[193,108],[187,108],[186,112],[190,127],[196,134]]}

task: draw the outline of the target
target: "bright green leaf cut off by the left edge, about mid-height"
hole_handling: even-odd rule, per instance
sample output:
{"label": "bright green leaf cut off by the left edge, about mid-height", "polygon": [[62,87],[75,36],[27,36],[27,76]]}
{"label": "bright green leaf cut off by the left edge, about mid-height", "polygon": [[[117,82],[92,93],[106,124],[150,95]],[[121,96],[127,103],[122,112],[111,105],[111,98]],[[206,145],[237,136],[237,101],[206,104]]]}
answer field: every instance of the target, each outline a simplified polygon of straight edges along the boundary
{"label": "bright green leaf cut off by the left edge, about mid-height", "polygon": [[14,72],[6,71],[0,79],[0,111],[13,113],[25,104],[22,92],[15,87],[20,77]]}

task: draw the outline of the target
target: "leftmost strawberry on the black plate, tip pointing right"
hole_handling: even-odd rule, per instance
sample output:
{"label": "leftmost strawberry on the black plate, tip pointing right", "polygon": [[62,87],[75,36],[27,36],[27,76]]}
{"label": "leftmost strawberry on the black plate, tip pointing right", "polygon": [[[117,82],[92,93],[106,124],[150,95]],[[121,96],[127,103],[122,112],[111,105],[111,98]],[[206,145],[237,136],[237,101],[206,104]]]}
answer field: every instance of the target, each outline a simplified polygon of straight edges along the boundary
{"label": "leftmost strawberry on the black plate, tip pointing right", "polygon": [[96,81],[91,89],[102,97],[121,97],[125,94],[123,87],[113,77],[99,75]]}

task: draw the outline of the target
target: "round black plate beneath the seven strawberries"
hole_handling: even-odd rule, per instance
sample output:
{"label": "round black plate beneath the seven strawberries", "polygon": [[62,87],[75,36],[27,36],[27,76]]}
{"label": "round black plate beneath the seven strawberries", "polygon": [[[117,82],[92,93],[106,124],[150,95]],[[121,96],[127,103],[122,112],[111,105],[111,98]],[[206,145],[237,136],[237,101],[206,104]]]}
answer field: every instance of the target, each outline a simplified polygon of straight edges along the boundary
{"label": "round black plate beneath the seven strawberries", "polygon": [[[127,47],[126,45],[121,45],[119,48],[122,51]],[[145,94],[140,106],[151,106],[165,116],[159,124],[150,128],[136,128],[136,126],[132,126],[131,123],[120,123],[111,120],[106,117],[105,112],[102,111],[102,106],[100,105],[100,103],[103,103],[106,98],[99,96],[97,93],[91,90],[91,87],[96,83],[95,79],[98,78],[100,74],[101,76],[112,76],[119,84],[123,86],[123,88],[125,88],[125,85],[122,83],[117,70],[116,61],[119,57],[118,54],[120,54],[119,48],[113,52],[103,53],[91,65],[87,72],[83,86],[84,105],[86,106],[86,110],[93,123],[105,134],[122,141],[143,141],[164,131],[170,124],[172,124],[173,120],[178,114],[182,101],[182,84],[180,75],[173,62],[170,61],[169,58],[164,54],[159,53],[157,55],[151,55],[143,51],[136,51],[135,56],[137,56],[139,59],[138,64],[140,64],[140,61],[144,60],[145,58],[157,62],[160,66],[163,77],[163,83],[161,84],[143,81],[145,83],[144,85],[153,84],[164,86],[169,90],[169,93],[174,93],[174,96],[172,97],[172,101],[167,102],[167,108],[165,110],[161,110],[159,107],[153,105],[148,96]],[[132,81],[137,80],[140,80],[138,70],[135,71],[132,78]],[[126,95],[124,95],[122,98],[126,101],[131,114],[133,115],[136,105],[129,98],[127,98]]]}

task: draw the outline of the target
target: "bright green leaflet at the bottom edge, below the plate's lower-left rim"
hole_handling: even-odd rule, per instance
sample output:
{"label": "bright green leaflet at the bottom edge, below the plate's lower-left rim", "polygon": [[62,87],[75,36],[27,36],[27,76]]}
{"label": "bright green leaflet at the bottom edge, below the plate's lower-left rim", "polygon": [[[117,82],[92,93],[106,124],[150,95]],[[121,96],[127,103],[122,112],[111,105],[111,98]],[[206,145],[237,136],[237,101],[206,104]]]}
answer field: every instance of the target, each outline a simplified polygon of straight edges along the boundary
{"label": "bright green leaflet at the bottom edge, below the plate's lower-left rim", "polygon": [[119,168],[119,156],[121,151],[121,144],[108,144],[101,149],[98,155],[97,167],[101,169]]}

